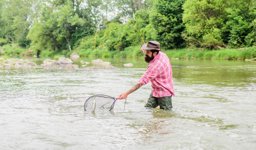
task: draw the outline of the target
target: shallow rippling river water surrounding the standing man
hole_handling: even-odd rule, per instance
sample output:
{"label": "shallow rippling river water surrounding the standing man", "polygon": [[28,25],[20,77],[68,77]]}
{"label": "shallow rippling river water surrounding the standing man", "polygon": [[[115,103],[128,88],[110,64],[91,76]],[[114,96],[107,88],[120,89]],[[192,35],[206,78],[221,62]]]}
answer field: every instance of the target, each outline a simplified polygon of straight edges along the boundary
{"label": "shallow rippling river water surrounding the standing man", "polygon": [[112,112],[85,112],[88,97],[116,98],[147,67],[143,59],[104,61],[120,69],[0,69],[0,149],[256,148],[256,63],[171,60],[172,111],[144,108],[147,84],[125,109],[120,100]]}

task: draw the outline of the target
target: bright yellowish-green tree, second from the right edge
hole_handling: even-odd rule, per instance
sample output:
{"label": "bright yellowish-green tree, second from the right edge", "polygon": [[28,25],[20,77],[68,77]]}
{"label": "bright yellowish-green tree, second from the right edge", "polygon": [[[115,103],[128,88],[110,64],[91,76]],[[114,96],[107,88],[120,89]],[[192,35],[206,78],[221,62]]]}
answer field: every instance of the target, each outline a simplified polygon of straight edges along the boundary
{"label": "bright yellowish-green tree, second from the right edge", "polygon": [[183,34],[188,46],[219,48],[220,28],[225,15],[225,0],[187,0],[184,5],[183,21],[186,31]]}

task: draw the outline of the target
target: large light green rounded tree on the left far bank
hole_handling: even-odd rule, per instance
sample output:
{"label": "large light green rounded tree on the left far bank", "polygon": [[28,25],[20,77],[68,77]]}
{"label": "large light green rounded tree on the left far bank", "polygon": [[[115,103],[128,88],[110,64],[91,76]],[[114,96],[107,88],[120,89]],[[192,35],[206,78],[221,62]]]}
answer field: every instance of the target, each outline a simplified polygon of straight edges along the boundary
{"label": "large light green rounded tree on the left far bank", "polygon": [[78,39],[92,34],[96,22],[92,13],[97,6],[99,1],[50,1],[41,11],[40,21],[31,27],[28,39],[35,49],[71,49]]}

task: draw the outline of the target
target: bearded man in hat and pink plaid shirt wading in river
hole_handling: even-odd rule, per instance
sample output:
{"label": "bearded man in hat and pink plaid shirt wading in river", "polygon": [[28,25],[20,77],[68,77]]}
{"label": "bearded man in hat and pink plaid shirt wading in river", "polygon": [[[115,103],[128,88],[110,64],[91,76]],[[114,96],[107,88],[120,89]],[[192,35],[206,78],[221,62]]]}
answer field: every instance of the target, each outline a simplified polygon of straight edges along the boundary
{"label": "bearded man in hat and pink plaid shirt wading in river", "polygon": [[151,82],[152,90],[145,105],[146,108],[171,110],[173,108],[171,97],[175,96],[173,88],[173,73],[168,56],[160,50],[160,43],[149,41],[141,46],[141,53],[145,55],[145,61],[149,63],[146,73],[141,76],[139,82],[129,91],[120,94],[117,99],[126,99],[137,89]]}

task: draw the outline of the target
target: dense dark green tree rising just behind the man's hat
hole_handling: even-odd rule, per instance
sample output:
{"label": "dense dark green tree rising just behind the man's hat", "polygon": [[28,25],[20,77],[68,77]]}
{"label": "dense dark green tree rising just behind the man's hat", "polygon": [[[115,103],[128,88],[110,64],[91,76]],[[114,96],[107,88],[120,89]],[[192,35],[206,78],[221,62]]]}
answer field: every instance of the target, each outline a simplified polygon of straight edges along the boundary
{"label": "dense dark green tree rising just behind the man's hat", "polygon": [[184,0],[157,0],[151,12],[151,24],[156,29],[157,39],[166,49],[183,47],[181,32]]}

